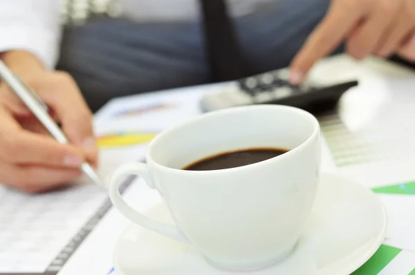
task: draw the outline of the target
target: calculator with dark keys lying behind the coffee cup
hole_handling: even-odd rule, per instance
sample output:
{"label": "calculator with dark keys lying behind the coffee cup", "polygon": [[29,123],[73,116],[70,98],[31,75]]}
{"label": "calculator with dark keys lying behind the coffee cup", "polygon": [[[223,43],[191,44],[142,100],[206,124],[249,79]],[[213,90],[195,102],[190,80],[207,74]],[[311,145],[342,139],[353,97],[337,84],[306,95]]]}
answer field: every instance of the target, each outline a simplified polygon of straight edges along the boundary
{"label": "calculator with dark keys lying behind the coffee cup", "polygon": [[358,85],[358,80],[318,82],[306,79],[298,86],[288,82],[288,68],[238,79],[221,91],[201,99],[203,112],[251,104],[282,104],[319,113],[333,108],[344,92]]}

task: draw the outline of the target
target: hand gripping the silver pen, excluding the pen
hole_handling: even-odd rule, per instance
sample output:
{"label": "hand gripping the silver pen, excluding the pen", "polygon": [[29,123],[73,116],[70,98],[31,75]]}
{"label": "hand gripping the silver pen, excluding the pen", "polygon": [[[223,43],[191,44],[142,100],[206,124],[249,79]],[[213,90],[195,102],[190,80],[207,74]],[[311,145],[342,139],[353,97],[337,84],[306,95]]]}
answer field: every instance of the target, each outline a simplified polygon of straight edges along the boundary
{"label": "hand gripping the silver pen, excluding the pen", "polygon": [[28,53],[3,60],[50,107],[71,144],[59,144],[10,91],[0,85],[0,182],[29,192],[47,191],[81,175],[80,164],[97,162],[91,111],[73,79],[45,70]]}

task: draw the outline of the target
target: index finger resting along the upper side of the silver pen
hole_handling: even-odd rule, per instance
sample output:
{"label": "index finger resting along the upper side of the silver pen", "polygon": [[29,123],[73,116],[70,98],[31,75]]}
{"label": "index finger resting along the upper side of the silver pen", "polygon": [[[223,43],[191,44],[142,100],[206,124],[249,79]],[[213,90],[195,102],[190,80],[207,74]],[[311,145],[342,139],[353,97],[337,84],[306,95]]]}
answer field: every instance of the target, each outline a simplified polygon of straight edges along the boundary
{"label": "index finger resting along the upper side of the silver pen", "polygon": [[73,79],[66,73],[57,73],[45,96],[53,107],[62,129],[69,140],[84,149],[90,162],[98,159],[98,146],[93,138],[92,113]]}

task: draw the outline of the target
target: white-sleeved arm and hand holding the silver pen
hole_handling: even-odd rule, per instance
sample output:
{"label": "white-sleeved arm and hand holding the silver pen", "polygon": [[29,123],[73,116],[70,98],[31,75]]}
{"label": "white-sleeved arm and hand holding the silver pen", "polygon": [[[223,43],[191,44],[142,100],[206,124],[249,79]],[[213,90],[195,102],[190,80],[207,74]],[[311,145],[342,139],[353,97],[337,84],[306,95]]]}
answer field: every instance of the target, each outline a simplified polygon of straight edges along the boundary
{"label": "white-sleeved arm and hand holding the silver pen", "polygon": [[0,0],[0,58],[53,110],[71,141],[51,139],[8,85],[0,84],[0,182],[30,192],[62,187],[81,176],[82,162],[96,165],[98,159],[91,111],[73,78],[53,70],[59,2]]}

